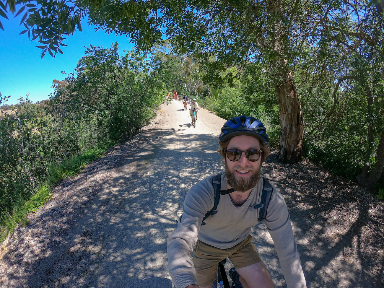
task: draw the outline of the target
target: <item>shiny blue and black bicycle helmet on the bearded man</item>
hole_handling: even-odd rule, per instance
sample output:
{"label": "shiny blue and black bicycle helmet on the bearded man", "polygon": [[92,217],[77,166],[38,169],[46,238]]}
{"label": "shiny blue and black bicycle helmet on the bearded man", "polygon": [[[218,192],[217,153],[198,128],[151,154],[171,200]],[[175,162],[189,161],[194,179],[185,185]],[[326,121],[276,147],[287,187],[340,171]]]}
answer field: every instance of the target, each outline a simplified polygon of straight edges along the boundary
{"label": "shiny blue and black bicycle helmet on the bearded man", "polygon": [[249,135],[257,138],[259,141],[264,142],[268,146],[268,134],[263,123],[250,116],[233,117],[224,123],[221,128],[218,140],[222,143],[227,142],[234,136]]}

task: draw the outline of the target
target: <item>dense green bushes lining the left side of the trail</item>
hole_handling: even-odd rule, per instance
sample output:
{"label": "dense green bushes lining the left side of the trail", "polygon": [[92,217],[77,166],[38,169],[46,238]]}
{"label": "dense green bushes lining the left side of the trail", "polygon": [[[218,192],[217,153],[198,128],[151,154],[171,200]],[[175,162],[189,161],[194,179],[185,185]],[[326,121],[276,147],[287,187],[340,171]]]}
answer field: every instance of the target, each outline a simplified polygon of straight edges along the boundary
{"label": "dense green bushes lining the left side of the trail", "polygon": [[90,46],[64,81],[54,81],[45,109],[27,97],[17,114],[3,114],[0,236],[45,203],[52,185],[147,124],[167,94],[167,73],[155,56]]}

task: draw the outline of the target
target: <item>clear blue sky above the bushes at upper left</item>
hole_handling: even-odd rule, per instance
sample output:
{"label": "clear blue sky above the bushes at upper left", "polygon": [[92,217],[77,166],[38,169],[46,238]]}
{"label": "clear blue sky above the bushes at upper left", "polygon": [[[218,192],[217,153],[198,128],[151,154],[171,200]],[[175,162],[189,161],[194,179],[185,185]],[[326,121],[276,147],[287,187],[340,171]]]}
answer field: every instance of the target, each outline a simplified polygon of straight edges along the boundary
{"label": "clear blue sky above the bushes at upper left", "polygon": [[0,29],[0,92],[3,96],[11,96],[5,104],[16,104],[20,96],[25,98],[27,93],[31,101],[36,103],[48,99],[53,89],[50,88],[53,79],[65,78],[61,71],[70,73],[76,67],[77,61],[84,55],[85,46],[103,45],[111,47],[114,42],[119,43],[120,54],[123,50],[131,50],[132,43],[128,38],[113,34],[104,34],[104,31],[95,32],[94,26],[88,26],[86,19],[81,23],[83,31],[75,31],[63,41],[66,47],[61,47],[64,54],[57,54],[52,58],[48,53],[40,58],[40,45],[37,41],[28,40],[28,35],[19,35],[25,30],[20,26],[20,17],[9,20],[1,17],[4,30]]}

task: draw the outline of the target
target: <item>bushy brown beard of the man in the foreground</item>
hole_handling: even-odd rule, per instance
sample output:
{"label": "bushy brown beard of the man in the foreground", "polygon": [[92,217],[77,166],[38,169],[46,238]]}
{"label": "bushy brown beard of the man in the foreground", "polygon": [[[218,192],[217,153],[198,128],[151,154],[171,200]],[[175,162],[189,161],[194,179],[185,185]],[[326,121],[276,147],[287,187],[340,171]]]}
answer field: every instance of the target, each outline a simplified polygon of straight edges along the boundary
{"label": "bushy brown beard of the man in the foreground", "polygon": [[[245,169],[250,169],[252,171],[252,175],[249,177],[238,177],[231,170],[229,170],[227,163],[224,164],[225,167],[225,176],[227,176],[227,183],[236,191],[245,192],[248,190],[252,190],[253,187],[256,186],[257,182],[260,179],[261,175],[261,167],[257,170],[254,170],[253,167],[245,167]],[[235,166],[233,170],[240,170],[241,166]]]}

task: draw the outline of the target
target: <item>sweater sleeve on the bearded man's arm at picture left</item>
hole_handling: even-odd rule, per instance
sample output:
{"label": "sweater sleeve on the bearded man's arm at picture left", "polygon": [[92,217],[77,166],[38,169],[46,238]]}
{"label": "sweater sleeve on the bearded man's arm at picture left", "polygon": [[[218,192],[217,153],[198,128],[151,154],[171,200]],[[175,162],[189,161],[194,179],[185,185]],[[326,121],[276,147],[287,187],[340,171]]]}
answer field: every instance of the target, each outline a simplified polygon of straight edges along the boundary
{"label": "sweater sleeve on the bearded man's arm at picture left", "polygon": [[191,254],[202,219],[214,202],[212,184],[211,187],[208,185],[212,182],[212,177],[208,179],[195,184],[187,192],[177,228],[167,240],[168,270],[175,288],[197,285]]}

